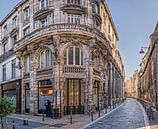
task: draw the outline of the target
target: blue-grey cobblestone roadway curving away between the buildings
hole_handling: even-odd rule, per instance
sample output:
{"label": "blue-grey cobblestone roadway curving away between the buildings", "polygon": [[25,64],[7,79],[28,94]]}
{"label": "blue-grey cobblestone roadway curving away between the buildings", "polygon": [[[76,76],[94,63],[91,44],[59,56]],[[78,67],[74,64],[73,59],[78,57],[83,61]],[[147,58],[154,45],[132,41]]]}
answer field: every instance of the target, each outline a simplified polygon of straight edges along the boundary
{"label": "blue-grey cobblestone roadway curving away between the buildings", "polygon": [[142,129],[144,127],[144,116],[140,105],[136,100],[128,99],[120,108],[86,129]]}

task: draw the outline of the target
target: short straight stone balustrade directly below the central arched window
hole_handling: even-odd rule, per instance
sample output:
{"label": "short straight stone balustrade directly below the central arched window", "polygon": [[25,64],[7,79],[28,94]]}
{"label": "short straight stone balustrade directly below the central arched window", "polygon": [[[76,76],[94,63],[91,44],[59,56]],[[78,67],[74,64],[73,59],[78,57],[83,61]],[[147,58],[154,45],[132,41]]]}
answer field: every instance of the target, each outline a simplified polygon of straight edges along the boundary
{"label": "short straight stone balustrade directly below the central arched window", "polygon": [[83,66],[64,66],[63,73],[84,73],[85,67]]}

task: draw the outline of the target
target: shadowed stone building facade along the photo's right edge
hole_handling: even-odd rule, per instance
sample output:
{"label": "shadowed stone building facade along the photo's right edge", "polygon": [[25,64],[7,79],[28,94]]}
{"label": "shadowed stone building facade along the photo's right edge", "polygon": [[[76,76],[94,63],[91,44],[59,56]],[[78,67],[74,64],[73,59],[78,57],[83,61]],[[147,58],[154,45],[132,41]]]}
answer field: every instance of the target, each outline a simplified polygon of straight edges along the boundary
{"label": "shadowed stone building facade along the photo's right edge", "polygon": [[150,36],[150,43],[140,64],[138,94],[158,109],[158,24]]}

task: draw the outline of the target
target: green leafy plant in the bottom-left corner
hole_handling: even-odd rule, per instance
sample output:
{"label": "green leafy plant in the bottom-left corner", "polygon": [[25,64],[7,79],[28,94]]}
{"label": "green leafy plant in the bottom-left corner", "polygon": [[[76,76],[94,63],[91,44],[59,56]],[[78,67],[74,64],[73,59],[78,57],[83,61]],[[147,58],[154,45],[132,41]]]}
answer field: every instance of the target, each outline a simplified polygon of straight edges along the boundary
{"label": "green leafy plant in the bottom-left corner", "polygon": [[13,105],[13,99],[7,99],[0,97],[0,117],[4,118],[4,128],[8,128],[8,115],[15,112],[15,108]]}

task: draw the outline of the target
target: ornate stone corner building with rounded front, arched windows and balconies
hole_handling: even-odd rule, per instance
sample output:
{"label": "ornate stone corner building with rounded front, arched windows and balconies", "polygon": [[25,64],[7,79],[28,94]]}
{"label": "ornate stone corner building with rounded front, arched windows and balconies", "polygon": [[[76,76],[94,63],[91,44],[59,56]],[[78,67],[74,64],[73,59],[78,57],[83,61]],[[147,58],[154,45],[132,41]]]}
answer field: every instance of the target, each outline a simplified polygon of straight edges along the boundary
{"label": "ornate stone corner building with rounded front, arched windows and balconies", "polygon": [[2,56],[13,49],[19,60],[21,113],[41,113],[46,100],[61,115],[86,113],[123,97],[118,35],[103,0],[22,0],[1,22],[0,42]]}

